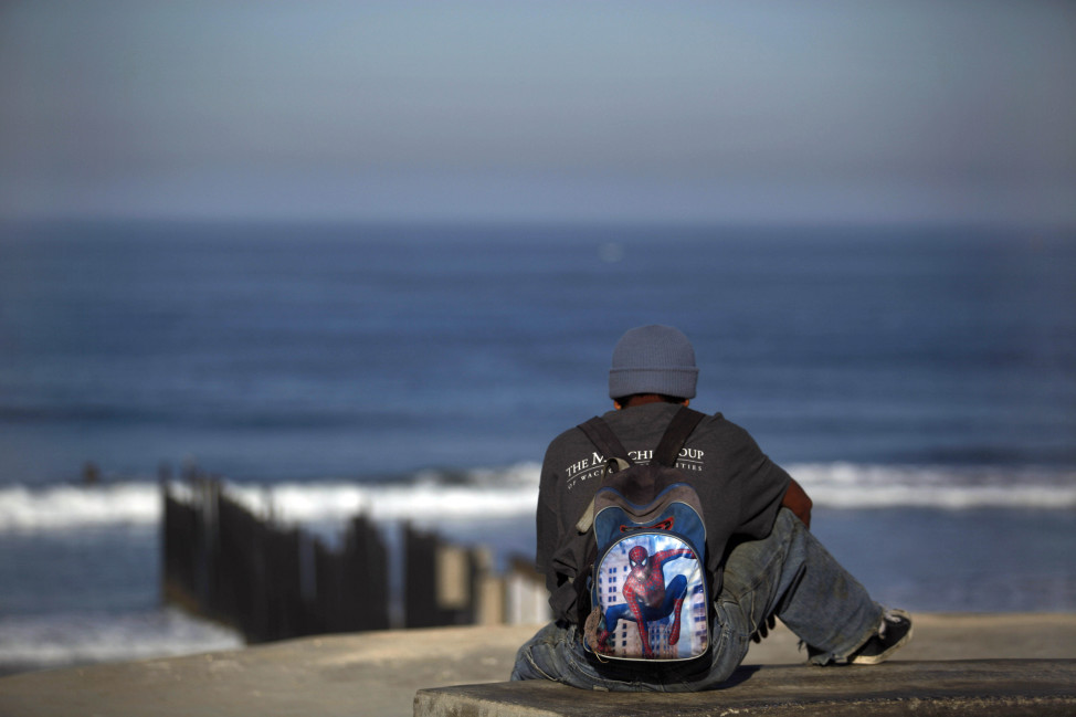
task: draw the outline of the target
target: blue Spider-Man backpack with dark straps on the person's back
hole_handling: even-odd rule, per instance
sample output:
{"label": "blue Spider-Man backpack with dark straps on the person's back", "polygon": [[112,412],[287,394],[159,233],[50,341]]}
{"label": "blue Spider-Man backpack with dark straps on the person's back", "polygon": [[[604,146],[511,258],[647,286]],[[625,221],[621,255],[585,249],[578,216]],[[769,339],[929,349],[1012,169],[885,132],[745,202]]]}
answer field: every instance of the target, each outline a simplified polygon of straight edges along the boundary
{"label": "blue Spider-Man backpack with dark straps on the person's back", "polygon": [[629,457],[600,418],[579,428],[605,467],[577,529],[593,529],[587,649],[602,658],[692,660],[709,646],[709,580],[703,508],[677,467],[703,414],[682,408],[648,464]]}

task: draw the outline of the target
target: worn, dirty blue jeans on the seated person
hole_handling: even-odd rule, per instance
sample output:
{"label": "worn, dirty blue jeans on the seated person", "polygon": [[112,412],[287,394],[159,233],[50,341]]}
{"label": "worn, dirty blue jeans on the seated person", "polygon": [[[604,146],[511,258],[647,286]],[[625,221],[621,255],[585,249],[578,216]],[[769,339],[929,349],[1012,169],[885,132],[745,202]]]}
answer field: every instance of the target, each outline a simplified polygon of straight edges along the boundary
{"label": "worn, dirty blue jeans on the seated person", "polygon": [[777,614],[826,664],[855,652],[882,623],[880,605],[791,510],[769,537],[737,546],[714,602],[710,649],[683,663],[599,661],[576,626],[552,622],[516,654],[511,679],[552,679],[583,689],[695,692],[719,686],[747,656],[751,634]]}

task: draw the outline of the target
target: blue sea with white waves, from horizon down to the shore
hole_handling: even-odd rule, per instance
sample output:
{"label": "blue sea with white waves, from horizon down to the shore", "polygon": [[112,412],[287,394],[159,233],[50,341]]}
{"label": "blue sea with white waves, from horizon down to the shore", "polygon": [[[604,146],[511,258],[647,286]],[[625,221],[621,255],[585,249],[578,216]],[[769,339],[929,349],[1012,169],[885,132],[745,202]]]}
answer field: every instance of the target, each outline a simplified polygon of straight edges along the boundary
{"label": "blue sea with white waves, from horizon down to the shore", "polygon": [[1076,231],[9,222],[0,672],[241,643],[160,601],[192,466],[529,556],[548,441],[650,323],[877,600],[1076,610]]}

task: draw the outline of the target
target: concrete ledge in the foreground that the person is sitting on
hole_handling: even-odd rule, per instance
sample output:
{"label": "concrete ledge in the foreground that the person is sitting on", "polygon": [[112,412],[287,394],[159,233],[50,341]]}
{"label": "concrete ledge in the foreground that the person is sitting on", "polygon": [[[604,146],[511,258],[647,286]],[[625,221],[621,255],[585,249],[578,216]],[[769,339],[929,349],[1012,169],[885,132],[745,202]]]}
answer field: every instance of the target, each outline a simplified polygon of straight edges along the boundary
{"label": "concrete ledge in the foreground that the person is sitting on", "polygon": [[1076,715],[1076,660],[741,667],[724,689],[608,693],[548,682],[421,689],[414,717]]}

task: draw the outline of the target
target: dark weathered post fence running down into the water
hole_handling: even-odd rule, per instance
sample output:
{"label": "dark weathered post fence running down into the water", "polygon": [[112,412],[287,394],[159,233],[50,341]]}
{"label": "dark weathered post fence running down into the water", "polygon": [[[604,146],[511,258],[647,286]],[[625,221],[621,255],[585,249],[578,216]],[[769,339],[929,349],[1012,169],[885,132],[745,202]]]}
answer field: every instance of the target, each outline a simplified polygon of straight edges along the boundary
{"label": "dark weathered post fence running down into the water", "polygon": [[[329,547],[256,516],[212,478],[192,476],[181,486],[162,481],[161,494],[165,600],[230,624],[251,643],[547,616],[534,568],[514,560],[500,574],[484,547],[451,545],[403,525],[402,555],[393,559],[381,530],[363,516]],[[402,580],[393,579],[393,562]]]}

